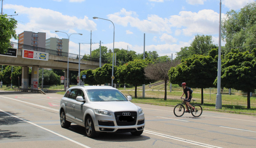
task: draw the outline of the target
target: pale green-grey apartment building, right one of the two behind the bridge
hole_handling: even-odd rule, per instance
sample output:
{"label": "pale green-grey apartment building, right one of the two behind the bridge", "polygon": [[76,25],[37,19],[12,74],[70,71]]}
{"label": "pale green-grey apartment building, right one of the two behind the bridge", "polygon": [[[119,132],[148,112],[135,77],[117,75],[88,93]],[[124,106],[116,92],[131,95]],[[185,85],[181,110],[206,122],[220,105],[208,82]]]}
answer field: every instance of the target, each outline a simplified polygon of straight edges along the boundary
{"label": "pale green-grey apartment building, right one of the two behind the bridge", "polygon": [[68,53],[68,39],[49,38],[46,39],[45,48],[51,50],[57,50],[64,53]]}

